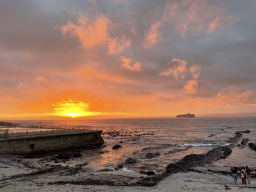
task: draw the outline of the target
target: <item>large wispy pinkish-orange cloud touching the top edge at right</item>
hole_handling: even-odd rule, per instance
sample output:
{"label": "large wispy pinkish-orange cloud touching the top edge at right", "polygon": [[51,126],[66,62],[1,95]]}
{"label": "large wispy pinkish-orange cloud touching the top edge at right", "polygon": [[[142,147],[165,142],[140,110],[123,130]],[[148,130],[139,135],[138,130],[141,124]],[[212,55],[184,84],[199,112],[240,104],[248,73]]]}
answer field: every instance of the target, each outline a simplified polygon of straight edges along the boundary
{"label": "large wispy pinkish-orange cloud touching the top edge at right", "polygon": [[225,8],[207,0],[167,1],[162,18],[146,33],[147,45],[154,46],[162,39],[162,27],[169,22],[182,38],[202,32],[212,34],[218,28],[233,28],[239,18],[225,15],[225,12]]}

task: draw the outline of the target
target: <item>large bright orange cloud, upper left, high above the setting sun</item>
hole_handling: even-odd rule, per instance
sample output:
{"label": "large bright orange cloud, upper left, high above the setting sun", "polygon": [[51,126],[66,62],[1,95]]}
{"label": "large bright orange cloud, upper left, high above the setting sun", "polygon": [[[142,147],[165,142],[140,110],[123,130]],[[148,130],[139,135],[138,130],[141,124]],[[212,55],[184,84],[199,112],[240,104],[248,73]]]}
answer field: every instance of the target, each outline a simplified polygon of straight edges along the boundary
{"label": "large bright orange cloud, upper left, high above the setting sun", "polygon": [[68,22],[59,28],[62,34],[70,34],[78,38],[85,49],[108,44],[109,54],[119,54],[130,47],[131,40],[125,36],[122,36],[122,39],[111,38],[108,33],[110,24],[111,21],[104,15],[96,17],[94,21],[87,16],[80,15],[77,23]]}

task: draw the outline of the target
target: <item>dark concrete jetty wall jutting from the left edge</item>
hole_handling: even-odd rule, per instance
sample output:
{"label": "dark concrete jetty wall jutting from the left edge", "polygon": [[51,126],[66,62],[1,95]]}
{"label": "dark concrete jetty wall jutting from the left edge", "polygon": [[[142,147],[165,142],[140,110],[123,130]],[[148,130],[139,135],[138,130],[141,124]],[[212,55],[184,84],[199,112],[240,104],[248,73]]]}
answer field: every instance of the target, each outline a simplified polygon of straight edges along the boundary
{"label": "dark concrete jetty wall jutting from the left edge", "polygon": [[0,138],[0,153],[32,154],[104,143],[102,130]]}

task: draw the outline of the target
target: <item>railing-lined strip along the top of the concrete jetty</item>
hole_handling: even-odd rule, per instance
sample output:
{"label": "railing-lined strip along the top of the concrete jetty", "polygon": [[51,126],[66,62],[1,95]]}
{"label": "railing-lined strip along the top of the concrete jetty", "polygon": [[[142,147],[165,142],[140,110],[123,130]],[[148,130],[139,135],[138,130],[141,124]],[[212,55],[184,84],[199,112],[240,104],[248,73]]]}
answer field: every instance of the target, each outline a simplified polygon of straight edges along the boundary
{"label": "railing-lined strip along the top of the concrete jetty", "polygon": [[81,130],[92,130],[92,126],[52,126],[39,124],[17,124],[15,127],[0,128],[0,137],[15,137],[22,135],[56,134],[64,132],[77,132]]}

